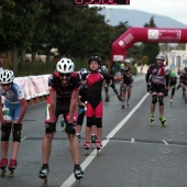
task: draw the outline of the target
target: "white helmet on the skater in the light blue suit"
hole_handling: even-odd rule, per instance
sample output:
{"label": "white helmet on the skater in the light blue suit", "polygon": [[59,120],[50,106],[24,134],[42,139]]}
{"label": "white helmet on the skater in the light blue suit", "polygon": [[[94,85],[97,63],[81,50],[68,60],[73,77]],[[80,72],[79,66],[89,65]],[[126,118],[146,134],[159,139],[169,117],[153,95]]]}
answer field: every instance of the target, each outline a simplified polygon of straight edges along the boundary
{"label": "white helmet on the skater in the light blue suit", "polygon": [[13,82],[14,74],[12,70],[4,69],[0,73],[0,84],[11,84]]}

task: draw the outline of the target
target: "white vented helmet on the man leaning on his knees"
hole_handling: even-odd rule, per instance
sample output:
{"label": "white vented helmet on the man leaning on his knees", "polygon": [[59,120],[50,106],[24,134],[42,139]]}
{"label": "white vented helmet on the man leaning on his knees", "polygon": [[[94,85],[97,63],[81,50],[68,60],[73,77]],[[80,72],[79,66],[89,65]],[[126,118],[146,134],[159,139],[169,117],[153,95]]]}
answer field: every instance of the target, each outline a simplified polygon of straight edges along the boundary
{"label": "white vented helmet on the man leaning on his knees", "polygon": [[73,73],[74,69],[75,69],[75,65],[69,58],[64,57],[56,64],[56,70],[58,73],[68,74],[68,73]]}

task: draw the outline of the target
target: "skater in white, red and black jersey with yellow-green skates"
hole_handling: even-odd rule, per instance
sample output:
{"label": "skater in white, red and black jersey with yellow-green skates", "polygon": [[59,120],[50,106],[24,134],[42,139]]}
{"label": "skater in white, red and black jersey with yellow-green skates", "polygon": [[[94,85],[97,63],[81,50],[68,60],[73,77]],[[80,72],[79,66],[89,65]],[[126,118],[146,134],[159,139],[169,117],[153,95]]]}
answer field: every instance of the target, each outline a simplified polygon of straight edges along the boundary
{"label": "skater in white, red and black jersey with yellow-green skates", "polygon": [[154,125],[154,112],[155,106],[158,101],[160,103],[160,120],[163,127],[166,127],[166,118],[164,114],[164,96],[167,96],[168,84],[169,84],[169,70],[166,65],[164,65],[165,56],[158,54],[156,56],[156,64],[152,64],[146,73],[145,80],[147,85],[147,91],[152,95],[151,103],[151,114],[150,122]]}

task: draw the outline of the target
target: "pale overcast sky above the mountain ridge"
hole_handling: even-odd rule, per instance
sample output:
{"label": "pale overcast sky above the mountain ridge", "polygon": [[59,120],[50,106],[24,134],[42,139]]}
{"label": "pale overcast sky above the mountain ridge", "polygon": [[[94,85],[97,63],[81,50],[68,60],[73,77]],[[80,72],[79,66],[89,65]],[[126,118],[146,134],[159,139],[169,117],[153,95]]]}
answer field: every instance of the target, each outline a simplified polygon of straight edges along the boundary
{"label": "pale overcast sky above the mountain ridge", "polygon": [[187,24],[187,0],[130,0],[130,6],[107,6],[142,10],[175,19]]}

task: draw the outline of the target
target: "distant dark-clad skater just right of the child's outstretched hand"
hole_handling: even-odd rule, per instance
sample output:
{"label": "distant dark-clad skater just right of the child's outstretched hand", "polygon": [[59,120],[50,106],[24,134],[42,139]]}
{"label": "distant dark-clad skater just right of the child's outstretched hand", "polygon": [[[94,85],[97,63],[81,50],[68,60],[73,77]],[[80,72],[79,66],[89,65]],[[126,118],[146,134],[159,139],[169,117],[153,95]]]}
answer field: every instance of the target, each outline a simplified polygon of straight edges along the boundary
{"label": "distant dark-clad skater just right of the child's outstretched hand", "polygon": [[[129,107],[129,105],[130,105],[132,84],[133,84],[134,79],[132,78],[132,74],[128,66],[123,66],[121,68],[121,75],[123,76],[123,80],[121,82],[123,103],[122,103],[121,108],[124,109],[125,106]],[[127,96],[127,92],[128,92],[128,96]]]}

